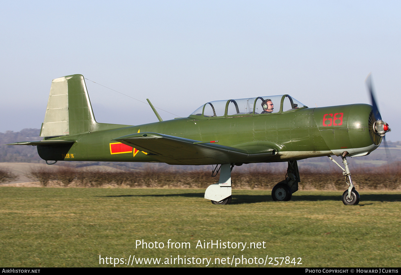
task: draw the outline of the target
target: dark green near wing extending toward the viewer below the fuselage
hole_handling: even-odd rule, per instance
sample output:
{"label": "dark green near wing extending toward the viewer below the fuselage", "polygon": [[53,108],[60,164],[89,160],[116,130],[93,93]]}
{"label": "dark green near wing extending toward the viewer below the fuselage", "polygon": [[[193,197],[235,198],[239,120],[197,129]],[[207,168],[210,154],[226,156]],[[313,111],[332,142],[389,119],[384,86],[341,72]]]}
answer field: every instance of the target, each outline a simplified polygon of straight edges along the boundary
{"label": "dark green near wing extending toward the viewer below the fuselage", "polygon": [[181,165],[264,162],[277,152],[267,145],[248,143],[243,147],[229,147],[153,132],[130,134],[113,141],[144,151],[157,161]]}

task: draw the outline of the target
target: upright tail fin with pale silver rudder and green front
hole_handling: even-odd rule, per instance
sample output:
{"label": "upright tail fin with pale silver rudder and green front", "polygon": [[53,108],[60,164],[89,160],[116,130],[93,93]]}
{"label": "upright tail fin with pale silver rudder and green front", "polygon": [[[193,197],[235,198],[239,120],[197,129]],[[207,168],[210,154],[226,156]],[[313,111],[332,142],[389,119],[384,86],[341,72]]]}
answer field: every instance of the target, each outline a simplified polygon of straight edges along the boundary
{"label": "upright tail fin with pale silver rudder and green front", "polygon": [[83,75],[53,79],[40,136],[87,133],[96,126]]}

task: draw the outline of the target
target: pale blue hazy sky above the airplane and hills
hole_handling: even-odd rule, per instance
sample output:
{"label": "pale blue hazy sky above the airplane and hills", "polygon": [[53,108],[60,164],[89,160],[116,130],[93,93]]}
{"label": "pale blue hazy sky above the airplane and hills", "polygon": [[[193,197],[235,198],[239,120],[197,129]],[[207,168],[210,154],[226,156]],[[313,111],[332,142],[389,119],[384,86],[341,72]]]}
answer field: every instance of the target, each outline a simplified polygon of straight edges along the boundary
{"label": "pale blue hazy sky above the airplane and hills", "polygon": [[372,73],[387,140],[400,141],[400,10],[399,1],[6,1],[0,132],[40,128],[51,80],[76,73],[90,79],[98,122],[130,125],[158,121],[146,98],[163,120],[278,94],[309,107],[370,104]]}

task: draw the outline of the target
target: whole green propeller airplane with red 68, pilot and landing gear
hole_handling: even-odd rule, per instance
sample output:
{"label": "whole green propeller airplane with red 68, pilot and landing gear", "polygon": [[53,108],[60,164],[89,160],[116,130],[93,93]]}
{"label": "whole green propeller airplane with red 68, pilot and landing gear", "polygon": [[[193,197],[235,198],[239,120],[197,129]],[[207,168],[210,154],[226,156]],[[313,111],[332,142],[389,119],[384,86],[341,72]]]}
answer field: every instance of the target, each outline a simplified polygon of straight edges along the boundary
{"label": "whole green propeller airplane with red 68, pilot and landing gear", "polygon": [[[373,91],[372,105],[308,108],[289,95],[259,96],[207,102],[186,118],[138,126],[98,123],[85,79],[54,79],[50,89],[42,141],[36,145],[47,164],[56,161],[134,161],[179,165],[220,165],[219,182],[205,191],[213,204],[231,202],[231,170],[245,163],[288,162],[286,177],[273,187],[275,201],[291,200],[298,190],[297,161],[340,156],[348,189],[346,205],[358,204],[347,157],[375,150],[389,125],[381,120]],[[274,107],[275,106],[275,107]],[[53,163],[52,163],[53,161]],[[217,168],[217,166],[216,166]]]}

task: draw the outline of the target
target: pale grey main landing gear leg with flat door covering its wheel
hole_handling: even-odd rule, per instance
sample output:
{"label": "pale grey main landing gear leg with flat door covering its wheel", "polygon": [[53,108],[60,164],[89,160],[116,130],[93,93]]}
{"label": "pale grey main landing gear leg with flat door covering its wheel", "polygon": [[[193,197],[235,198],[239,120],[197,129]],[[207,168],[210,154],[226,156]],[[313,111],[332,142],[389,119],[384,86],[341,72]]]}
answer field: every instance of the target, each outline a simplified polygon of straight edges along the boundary
{"label": "pale grey main landing gear leg with flat door covering its wheel", "polygon": [[205,191],[205,199],[211,200],[212,204],[231,203],[231,170],[234,165],[222,164],[220,168],[219,182],[209,185]]}

